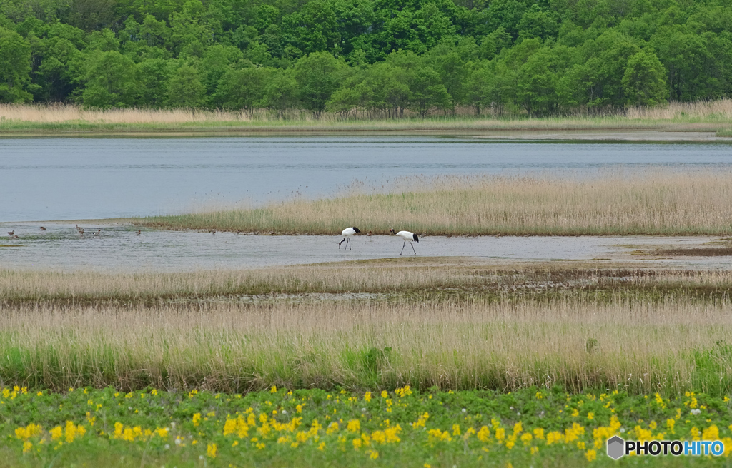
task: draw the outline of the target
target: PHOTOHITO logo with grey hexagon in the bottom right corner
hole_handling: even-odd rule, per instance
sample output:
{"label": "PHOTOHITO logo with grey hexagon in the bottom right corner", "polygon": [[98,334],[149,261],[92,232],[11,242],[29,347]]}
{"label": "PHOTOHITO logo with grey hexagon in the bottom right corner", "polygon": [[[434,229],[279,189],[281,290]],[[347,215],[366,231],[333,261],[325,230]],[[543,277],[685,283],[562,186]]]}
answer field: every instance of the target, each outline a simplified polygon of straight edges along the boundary
{"label": "PHOTOHITO logo with grey hexagon in the bottom right corner", "polygon": [[621,456],[630,455],[713,455],[725,453],[725,444],[721,440],[623,440],[618,436],[608,439],[608,456],[617,460]]}

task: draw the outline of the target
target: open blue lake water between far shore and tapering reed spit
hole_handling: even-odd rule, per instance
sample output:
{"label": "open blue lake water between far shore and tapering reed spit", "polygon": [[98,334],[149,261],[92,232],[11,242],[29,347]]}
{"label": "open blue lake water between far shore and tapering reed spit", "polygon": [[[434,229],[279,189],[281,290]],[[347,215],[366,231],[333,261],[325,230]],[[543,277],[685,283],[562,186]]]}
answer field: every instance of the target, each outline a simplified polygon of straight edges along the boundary
{"label": "open blue lake water between far shore and tapering reed spit", "polygon": [[496,142],[474,137],[0,139],[0,222],[118,218],[415,174],[730,166],[732,145]]}

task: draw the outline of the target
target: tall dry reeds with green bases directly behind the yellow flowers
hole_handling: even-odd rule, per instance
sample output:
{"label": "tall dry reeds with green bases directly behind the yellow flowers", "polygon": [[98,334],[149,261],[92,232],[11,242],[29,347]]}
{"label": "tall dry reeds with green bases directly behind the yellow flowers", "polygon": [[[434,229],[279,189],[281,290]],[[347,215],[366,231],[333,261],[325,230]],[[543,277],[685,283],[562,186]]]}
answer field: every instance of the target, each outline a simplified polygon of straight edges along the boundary
{"label": "tall dry reeds with green bases directly behind the yellow flowers", "polygon": [[728,310],[684,300],[21,306],[0,314],[0,380],[722,394],[732,388],[732,351],[719,345],[732,340]]}

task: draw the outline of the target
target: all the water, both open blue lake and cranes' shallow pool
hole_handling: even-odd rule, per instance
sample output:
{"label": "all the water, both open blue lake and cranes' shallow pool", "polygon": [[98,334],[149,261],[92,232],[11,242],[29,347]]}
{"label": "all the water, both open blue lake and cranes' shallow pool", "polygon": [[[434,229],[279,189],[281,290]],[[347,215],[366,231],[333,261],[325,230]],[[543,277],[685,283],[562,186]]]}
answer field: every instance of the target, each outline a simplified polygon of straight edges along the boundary
{"label": "all the water, both open blue lake and cranes' shallow pool", "polygon": [[[0,268],[186,271],[399,255],[394,237],[253,236],[144,231],[130,226],[31,220],[119,218],[181,212],[206,205],[250,205],[291,196],[333,196],[354,180],[378,185],[435,174],[594,173],[729,167],[720,143],[501,142],[476,137],[200,137],[0,139]],[[99,236],[92,231],[102,229]],[[16,231],[20,239],[8,239]],[[701,242],[703,239],[674,239]],[[426,237],[421,256],[502,261],[635,261],[619,244],[668,244],[652,237]],[[411,254],[406,246],[405,252]],[[676,258],[669,266],[728,268],[727,258]]]}

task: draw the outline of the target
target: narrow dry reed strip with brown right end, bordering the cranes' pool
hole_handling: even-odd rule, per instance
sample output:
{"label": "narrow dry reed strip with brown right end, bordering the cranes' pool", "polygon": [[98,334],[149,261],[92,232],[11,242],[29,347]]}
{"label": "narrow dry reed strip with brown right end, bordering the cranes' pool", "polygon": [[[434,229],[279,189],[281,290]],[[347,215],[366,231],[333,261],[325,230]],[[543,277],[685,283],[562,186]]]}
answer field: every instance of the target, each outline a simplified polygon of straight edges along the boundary
{"label": "narrow dry reed strip with brown right end, bordering the cranes' pool", "polygon": [[[268,294],[402,293],[436,291],[608,291],[725,299],[732,272],[663,269],[588,269],[561,264],[526,266],[460,265],[413,258],[391,264],[316,265],[191,273],[103,274],[0,270],[0,304],[69,302],[166,302]],[[453,260],[455,261],[455,260]],[[645,295],[646,297],[648,294]],[[413,295],[414,297],[414,295]]]}

